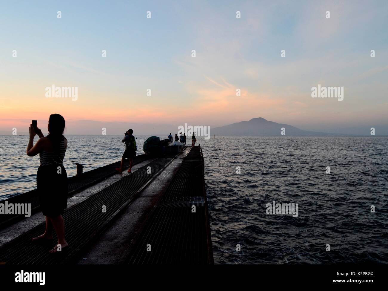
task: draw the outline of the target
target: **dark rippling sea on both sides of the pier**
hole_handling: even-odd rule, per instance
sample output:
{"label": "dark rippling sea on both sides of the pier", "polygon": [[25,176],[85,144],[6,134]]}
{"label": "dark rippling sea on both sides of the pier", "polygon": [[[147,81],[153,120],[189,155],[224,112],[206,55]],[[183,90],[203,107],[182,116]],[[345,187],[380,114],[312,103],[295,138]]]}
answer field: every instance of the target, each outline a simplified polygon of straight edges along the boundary
{"label": "dark rippling sea on both sides of the pier", "polygon": [[[149,136],[136,137],[139,155]],[[124,151],[122,136],[66,138],[68,176],[76,162],[89,171]],[[198,143],[216,264],[388,263],[388,137]],[[39,157],[26,155],[27,144],[28,136],[0,136],[0,200],[36,188]],[[297,216],[272,211],[277,204],[297,206]]]}

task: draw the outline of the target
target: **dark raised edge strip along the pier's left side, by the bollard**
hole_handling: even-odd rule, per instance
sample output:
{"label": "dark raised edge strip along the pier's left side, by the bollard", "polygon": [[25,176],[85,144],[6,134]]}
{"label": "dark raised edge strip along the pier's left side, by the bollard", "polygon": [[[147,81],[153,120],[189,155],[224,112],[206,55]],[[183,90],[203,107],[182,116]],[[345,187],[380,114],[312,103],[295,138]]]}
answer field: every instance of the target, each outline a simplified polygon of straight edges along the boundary
{"label": "dark raised edge strip along the pier's left side, by the bollard", "polygon": [[[140,162],[144,162],[147,160],[147,155],[138,155],[135,158],[133,158],[133,165],[139,164]],[[104,167],[100,167],[98,169],[94,169],[91,171],[87,171],[83,173],[81,176],[72,176],[68,178],[68,193],[69,195],[73,195],[76,192],[80,192],[81,190],[90,187],[91,185],[94,185],[98,183],[99,181],[102,181],[113,174],[117,173],[116,168],[120,167],[120,161],[115,162],[113,164],[106,165]],[[129,160],[126,159],[124,162],[124,167],[129,167]],[[38,199],[38,192],[37,190],[31,190],[29,192],[10,197],[8,199],[5,199],[8,201],[8,203],[30,203],[31,204],[31,214],[36,213],[39,211],[39,199]],[[5,201],[4,200],[4,201]],[[2,203],[2,201],[0,201]],[[23,219],[25,216],[19,215],[19,214],[7,214],[7,215],[0,215],[0,229],[15,223],[17,220]]]}

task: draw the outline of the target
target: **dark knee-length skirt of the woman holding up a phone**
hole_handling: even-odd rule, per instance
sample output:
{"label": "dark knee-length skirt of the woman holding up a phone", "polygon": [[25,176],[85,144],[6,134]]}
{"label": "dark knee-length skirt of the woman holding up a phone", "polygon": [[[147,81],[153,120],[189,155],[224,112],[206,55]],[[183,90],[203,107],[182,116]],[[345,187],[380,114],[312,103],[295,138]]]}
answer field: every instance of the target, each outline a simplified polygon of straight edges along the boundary
{"label": "dark knee-length skirt of the woman holding up a phone", "polygon": [[63,165],[39,166],[36,188],[43,215],[54,218],[64,213],[68,206],[68,174]]}

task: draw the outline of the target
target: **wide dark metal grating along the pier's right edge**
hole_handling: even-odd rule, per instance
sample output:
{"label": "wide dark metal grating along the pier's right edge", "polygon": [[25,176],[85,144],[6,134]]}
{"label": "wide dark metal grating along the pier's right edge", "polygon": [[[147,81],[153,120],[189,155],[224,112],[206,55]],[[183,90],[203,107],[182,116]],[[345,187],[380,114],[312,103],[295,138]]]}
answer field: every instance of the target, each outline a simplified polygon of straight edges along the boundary
{"label": "wide dark metal grating along the pier's right edge", "polygon": [[[192,206],[196,207],[195,213]],[[213,263],[204,161],[199,146],[193,147],[183,160],[123,261],[128,264]]]}

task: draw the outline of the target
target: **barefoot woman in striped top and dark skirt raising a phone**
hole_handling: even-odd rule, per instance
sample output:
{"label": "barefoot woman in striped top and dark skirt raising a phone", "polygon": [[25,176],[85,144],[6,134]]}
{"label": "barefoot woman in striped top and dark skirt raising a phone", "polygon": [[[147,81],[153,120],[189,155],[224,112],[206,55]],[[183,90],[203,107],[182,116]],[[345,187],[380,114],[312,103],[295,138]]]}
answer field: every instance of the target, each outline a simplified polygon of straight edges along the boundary
{"label": "barefoot woman in striped top and dark skirt raising a phone", "polygon": [[[65,223],[62,217],[68,204],[68,176],[63,166],[67,139],[63,136],[65,119],[62,115],[52,114],[49,118],[45,137],[42,131],[31,124],[29,127],[29,142],[27,155],[33,157],[39,153],[40,166],[36,173],[36,190],[38,191],[40,209],[46,216],[46,230],[42,235],[34,237],[33,241],[49,241],[52,239],[54,227],[58,237],[58,244],[50,253],[57,253],[68,249],[65,239]],[[34,137],[39,139],[34,145]],[[61,248],[58,250],[58,247]]]}

